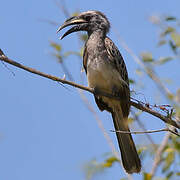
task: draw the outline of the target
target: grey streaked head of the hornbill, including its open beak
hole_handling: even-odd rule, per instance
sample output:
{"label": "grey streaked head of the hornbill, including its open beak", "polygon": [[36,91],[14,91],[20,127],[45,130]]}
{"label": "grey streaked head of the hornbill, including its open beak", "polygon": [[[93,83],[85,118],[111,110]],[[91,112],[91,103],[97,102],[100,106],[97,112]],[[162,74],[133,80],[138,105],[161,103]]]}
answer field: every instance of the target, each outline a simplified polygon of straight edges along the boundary
{"label": "grey streaked head of the hornbill, including its open beak", "polygon": [[99,11],[87,11],[67,19],[57,32],[67,26],[74,25],[62,37],[77,31],[87,31],[89,34],[96,30],[102,30],[105,34],[109,31],[110,23],[106,16]]}

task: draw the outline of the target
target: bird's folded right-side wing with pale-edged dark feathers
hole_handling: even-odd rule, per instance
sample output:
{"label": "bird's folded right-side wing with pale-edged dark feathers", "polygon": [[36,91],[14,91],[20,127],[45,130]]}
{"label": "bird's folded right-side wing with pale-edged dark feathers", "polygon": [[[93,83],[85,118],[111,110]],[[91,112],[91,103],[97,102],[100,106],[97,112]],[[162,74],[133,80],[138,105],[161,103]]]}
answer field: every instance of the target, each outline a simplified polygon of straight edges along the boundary
{"label": "bird's folded right-side wing with pale-edged dark feathers", "polygon": [[108,54],[108,60],[111,61],[111,64],[116,68],[119,72],[119,75],[124,80],[124,84],[122,85],[121,89],[118,89],[118,92],[115,92],[121,98],[121,107],[123,111],[123,115],[125,117],[129,114],[129,101],[130,101],[130,90],[129,90],[129,79],[128,79],[128,72],[126,69],[125,62],[121,53],[119,52],[118,48],[112,42],[112,40],[108,37],[105,38],[105,47]]}

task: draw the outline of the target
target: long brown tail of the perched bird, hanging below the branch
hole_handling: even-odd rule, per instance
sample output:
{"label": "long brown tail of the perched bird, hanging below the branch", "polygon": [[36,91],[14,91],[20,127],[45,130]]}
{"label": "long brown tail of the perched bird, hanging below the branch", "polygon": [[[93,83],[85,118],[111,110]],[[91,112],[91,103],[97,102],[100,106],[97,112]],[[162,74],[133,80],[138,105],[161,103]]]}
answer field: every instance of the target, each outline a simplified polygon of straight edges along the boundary
{"label": "long brown tail of the perched bird, hanging below the branch", "polygon": [[[122,111],[120,109],[112,112],[112,118],[116,131],[129,131],[128,119],[123,118]],[[124,169],[127,173],[139,173],[141,170],[141,161],[139,159],[135,144],[133,142],[131,134],[116,132],[118,139],[121,158]]]}

